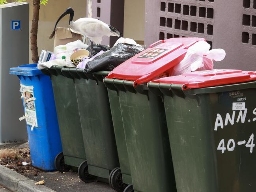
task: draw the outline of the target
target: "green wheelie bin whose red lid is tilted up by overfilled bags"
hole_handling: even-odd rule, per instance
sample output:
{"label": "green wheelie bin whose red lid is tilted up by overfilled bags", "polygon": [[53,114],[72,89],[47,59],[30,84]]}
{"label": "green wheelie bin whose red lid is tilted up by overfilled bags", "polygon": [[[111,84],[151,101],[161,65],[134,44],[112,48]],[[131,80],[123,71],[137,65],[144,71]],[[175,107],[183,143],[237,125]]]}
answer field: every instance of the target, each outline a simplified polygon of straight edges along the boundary
{"label": "green wheelie bin whose red lid is tilted up by overfilled bags", "polygon": [[[124,192],[176,192],[164,105],[145,82],[169,73],[184,58],[187,48],[197,41],[204,39],[158,41],[116,67],[104,79],[110,104],[116,98],[115,106],[119,102],[123,120],[123,130],[115,127],[115,131],[120,130],[116,138],[125,136],[133,184],[133,189],[127,186]],[[111,109],[113,114],[114,106]],[[126,153],[118,155],[122,159],[120,156]]]}

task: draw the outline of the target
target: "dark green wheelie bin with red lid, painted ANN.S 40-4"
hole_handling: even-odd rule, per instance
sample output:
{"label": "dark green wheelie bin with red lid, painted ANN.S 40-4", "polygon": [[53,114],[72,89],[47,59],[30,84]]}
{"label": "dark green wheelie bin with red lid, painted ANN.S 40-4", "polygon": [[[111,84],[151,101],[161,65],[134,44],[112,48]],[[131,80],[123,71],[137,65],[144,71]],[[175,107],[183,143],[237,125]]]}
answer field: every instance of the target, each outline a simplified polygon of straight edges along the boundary
{"label": "dark green wheelie bin with red lid, painted ANN.S 40-4", "polygon": [[256,73],[209,70],[148,83],[162,95],[178,192],[255,192]]}

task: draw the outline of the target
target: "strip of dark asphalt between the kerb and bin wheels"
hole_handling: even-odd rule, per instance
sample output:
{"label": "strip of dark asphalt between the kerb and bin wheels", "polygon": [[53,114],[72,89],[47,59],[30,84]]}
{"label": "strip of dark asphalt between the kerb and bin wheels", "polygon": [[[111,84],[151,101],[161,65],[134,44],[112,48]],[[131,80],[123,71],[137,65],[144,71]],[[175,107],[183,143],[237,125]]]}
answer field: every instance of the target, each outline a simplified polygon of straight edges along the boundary
{"label": "strip of dark asphalt between the kerb and bin wheels", "polygon": [[29,178],[36,182],[44,179],[45,186],[57,192],[116,192],[105,183],[84,183],[79,179],[77,173],[72,171],[67,173],[60,173],[58,171],[39,173],[37,176],[30,175]]}

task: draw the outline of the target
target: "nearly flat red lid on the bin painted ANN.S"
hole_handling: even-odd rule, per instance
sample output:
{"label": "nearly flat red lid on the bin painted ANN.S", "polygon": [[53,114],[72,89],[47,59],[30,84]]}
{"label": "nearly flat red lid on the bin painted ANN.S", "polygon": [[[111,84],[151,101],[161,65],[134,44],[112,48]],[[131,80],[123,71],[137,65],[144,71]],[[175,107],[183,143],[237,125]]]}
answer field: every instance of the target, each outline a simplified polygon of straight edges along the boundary
{"label": "nearly flat red lid on the bin painted ANN.S", "polygon": [[255,72],[213,69],[207,71],[194,71],[179,76],[169,76],[153,80],[153,83],[181,84],[183,90],[205,88],[224,84],[234,84],[256,80]]}

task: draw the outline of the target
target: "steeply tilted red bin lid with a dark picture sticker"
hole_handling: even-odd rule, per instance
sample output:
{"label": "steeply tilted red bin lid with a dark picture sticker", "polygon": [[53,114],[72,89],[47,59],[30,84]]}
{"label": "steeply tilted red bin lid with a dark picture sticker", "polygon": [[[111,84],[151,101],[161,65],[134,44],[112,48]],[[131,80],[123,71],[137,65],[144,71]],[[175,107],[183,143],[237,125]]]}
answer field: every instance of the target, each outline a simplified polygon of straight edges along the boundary
{"label": "steeply tilted red bin lid with a dark picture sticker", "polygon": [[148,82],[177,65],[183,60],[187,48],[198,41],[205,41],[205,39],[184,37],[157,41],[116,67],[107,78],[132,80],[135,81],[134,86]]}

